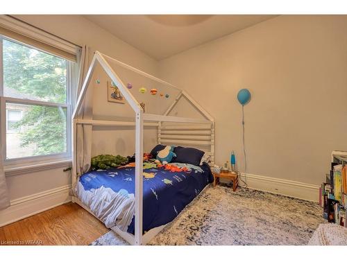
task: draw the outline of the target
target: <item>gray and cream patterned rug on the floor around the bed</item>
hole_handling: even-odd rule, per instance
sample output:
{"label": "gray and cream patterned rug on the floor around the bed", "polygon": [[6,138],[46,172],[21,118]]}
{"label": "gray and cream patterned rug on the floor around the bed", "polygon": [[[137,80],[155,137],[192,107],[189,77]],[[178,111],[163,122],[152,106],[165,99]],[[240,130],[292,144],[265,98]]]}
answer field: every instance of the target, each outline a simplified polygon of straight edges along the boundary
{"label": "gray and cream patterned rug on the floor around the bed", "polygon": [[[317,203],[239,188],[208,187],[149,245],[306,245],[325,223]],[[127,245],[108,232],[92,245]]]}

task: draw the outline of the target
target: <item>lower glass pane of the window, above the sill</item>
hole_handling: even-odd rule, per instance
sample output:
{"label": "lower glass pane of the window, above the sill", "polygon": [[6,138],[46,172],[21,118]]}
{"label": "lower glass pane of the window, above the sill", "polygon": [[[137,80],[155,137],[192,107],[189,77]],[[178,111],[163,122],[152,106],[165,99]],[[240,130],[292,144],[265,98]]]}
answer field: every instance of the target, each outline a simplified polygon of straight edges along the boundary
{"label": "lower glass pane of the window, above the sill", "polygon": [[[20,110],[22,119],[8,122],[6,159],[67,152],[67,109],[43,105],[6,103],[6,110]],[[7,119],[8,120],[8,119]]]}

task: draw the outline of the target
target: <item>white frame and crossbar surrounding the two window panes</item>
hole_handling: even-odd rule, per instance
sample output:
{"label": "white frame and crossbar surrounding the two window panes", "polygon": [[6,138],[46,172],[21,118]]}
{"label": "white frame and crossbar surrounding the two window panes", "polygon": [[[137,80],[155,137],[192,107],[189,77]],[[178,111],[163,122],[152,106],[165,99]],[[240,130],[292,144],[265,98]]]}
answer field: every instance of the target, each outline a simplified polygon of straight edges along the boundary
{"label": "white frame and crossbar surrounding the two window panes", "polygon": [[[28,46],[31,49],[37,49],[35,46],[30,46],[17,40],[12,40],[8,37],[0,35],[0,130],[1,130],[1,154],[3,156],[3,162],[5,166],[13,166],[18,164],[40,164],[42,162],[53,162],[60,161],[62,159],[71,159],[71,116],[73,112],[73,102],[72,102],[72,88],[76,83],[76,62],[71,62],[67,60],[67,101],[66,103],[52,103],[45,101],[34,101],[31,99],[23,98],[11,98],[8,96],[3,96],[3,39],[10,40],[17,44],[23,46]],[[37,49],[37,51],[42,51]],[[51,53],[48,53],[53,55]],[[50,155],[34,155],[28,157],[19,157],[19,158],[6,158],[6,130],[7,130],[7,114],[6,114],[6,103],[19,103],[24,105],[44,105],[49,107],[63,107],[67,109],[67,152],[65,153],[56,153]]]}

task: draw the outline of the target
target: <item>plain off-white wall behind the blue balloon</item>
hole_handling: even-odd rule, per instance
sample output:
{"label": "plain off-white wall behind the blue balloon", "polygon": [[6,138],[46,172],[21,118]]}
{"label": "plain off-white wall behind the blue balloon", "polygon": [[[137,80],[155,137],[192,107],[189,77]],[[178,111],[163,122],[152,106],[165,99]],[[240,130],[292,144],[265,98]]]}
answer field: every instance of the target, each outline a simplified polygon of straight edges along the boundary
{"label": "plain off-white wall behind the blue balloon", "polygon": [[[320,184],[332,150],[347,150],[347,16],[280,16],[160,62],[216,119],[216,159],[236,150],[248,173]],[[318,194],[317,197],[318,198]]]}

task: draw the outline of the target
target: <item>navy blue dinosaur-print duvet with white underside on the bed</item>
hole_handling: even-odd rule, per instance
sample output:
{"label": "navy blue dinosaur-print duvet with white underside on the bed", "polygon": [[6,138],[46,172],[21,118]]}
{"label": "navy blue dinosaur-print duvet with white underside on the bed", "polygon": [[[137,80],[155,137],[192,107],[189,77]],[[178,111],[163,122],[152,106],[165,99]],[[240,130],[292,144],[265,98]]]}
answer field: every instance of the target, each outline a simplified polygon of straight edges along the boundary
{"label": "navy blue dinosaur-print duvet with white underside on the bed", "polygon": [[[157,167],[144,162],[143,232],[165,225],[213,180],[208,164],[172,163]],[[135,164],[81,175],[76,196],[111,228],[135,232]]]}

